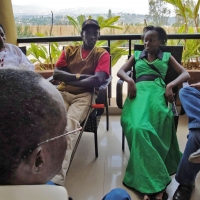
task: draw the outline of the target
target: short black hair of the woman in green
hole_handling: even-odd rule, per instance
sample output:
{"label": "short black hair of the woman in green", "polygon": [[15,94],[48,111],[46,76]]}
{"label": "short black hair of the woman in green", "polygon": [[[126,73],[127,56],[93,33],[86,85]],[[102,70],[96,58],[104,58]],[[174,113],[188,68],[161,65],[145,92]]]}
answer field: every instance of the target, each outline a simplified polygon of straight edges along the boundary
{"label": "short black hair of the woman in green", "polygon": [[156,31],[158,33],[158,38],[159,40],[162,41],[162,45],[166,45],[167,43],[167,33],[165,31],[165,29],[163,29],[160,26],[146,26],[143,28],[143,34],[142,34],[142,40],[144,40],[145,34],[147,31]]}

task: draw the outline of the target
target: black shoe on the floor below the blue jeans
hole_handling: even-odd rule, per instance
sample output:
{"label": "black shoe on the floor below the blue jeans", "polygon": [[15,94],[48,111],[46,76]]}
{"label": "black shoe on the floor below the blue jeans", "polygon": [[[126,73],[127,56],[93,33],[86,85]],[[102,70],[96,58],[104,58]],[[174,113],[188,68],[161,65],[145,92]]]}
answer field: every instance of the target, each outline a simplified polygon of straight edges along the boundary
{"label": "black shoe on the floor below the blue jeans", "polygon": [[176,189],[173,200],[190,200],[194,185],[179,185]]}

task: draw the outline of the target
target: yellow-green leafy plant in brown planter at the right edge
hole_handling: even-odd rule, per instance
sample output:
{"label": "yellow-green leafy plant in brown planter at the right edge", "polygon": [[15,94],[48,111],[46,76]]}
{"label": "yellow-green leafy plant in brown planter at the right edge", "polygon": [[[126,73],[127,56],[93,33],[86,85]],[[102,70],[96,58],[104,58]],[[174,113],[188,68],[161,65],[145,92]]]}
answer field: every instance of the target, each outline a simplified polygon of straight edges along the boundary
{"label": "yellow-green leafy plant in brown planter at the right edge", "polygon": [[[176,16],[182,19],[182,26],[178,33],[199,33],[199,6],[200,0],[195,4],[194,1],[182,0],[164,0],[175,7]],[[190,26],[188,25],[190,24]],[[200,41],[199,40],[182,40],[178,41],[184,46],[182,55],[182,65],[190,74],[189,83],[200,82]]]}

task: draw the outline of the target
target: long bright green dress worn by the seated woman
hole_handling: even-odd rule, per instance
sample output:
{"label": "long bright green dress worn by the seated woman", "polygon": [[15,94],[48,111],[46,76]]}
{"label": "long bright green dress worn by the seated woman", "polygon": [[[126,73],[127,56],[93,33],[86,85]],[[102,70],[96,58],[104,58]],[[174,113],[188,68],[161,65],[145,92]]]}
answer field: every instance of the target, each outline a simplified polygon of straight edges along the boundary
{"label": "long bright green dress worn by the seated woman", "polygon": [[[135,51],[136,78],[158,73]],[[168,69],[170,53],[163,52],[162,60],[153,64],[163,78]],[[152,63],[150,63],[152,64]],[[125,133],[130,158],[123,182],[144,194],[160,192],[170,183],[181,159],[173,113],[165,101],[162,78],[136,83],[136,98],[127,98],[122,110],[121,125]]]}

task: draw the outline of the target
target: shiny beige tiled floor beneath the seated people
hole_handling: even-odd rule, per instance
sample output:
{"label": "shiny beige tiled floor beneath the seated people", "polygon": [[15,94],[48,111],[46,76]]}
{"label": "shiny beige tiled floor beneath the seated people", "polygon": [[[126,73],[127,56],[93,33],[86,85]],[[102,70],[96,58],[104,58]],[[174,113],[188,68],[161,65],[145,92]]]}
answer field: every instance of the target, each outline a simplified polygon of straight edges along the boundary
{"label": "shiny beige tiled floor beneath the seated people", "polygon": [[[132,200],[142,200],[141,194],[123,186],[122,179],[129,158],[127,145],[121,149],[120,116],[110,116],[110,129],[106,131],[105,117],[101,119],[98,129],[99,157],[95,158],[93,133],[84,133],[73,162],[67,174],[65,187],[73,200],[101,200],[111,189],[125,188]],[[178,126],[178,140],[183,151],[187,135],[187,117],[181,116]],[[177,187],[172,176],[172,182],[167,188],[169,200]],[[200,199],[200,175],[191,200]]]}

